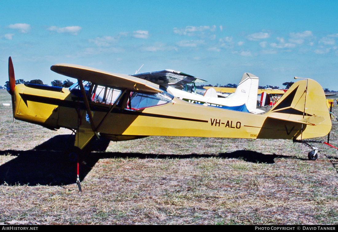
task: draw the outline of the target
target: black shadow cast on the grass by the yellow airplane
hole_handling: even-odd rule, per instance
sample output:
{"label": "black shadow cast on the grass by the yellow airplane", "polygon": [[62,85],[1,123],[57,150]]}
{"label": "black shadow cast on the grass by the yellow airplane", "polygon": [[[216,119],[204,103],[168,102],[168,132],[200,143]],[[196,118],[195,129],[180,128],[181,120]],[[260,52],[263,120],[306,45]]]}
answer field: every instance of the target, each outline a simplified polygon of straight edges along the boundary
{"label": "black shadow cast on the grass by the yellow airplane", "polygon": [[[188,159],[221,157],[235,158],[247,162],[274,163],[277,157],[297,158],[275,154],[265,155],[255,151],[239,150],[230,153],[208,154],[145,154],[145,153],[121,153],[102,152],[108,145],[108,140],[97,139],[88,146],[90,151],[82,155],[80,161],[79,176],[82,181],[92,170],[99,159],[103,158],[153,158],[153,159]],[[0,166],[0,184],[8,185],[68,185],[76,183],[77,158],[70,157],[69,150],[73,147],[74,135],[56,135],[32,150],[0,151],[0,155],[11,154],[17,156]],[[101,152],[100,152],[101,151]],[[299,158],[297,158],[299,159]]]}

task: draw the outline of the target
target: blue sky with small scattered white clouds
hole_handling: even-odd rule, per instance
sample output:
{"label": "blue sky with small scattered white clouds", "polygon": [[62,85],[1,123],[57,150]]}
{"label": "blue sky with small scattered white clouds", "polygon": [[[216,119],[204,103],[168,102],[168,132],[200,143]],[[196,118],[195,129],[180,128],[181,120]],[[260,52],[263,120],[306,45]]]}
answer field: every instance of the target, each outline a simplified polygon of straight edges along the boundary
{"label": "blue sky with small scattered white clouds", "polygon": [[[312,78],[338,90],[338,1],[2,1],[0,85],[70,79],[72,63],[113,73],[173,69],[210,84]],[[75,80],[72,80],[75,82]]]}

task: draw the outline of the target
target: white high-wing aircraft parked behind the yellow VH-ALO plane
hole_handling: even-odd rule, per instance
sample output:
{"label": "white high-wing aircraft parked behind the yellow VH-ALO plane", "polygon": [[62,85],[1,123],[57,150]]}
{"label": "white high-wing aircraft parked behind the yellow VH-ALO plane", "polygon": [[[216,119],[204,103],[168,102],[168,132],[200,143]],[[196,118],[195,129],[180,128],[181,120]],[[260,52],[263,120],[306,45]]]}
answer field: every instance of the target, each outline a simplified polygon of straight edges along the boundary
{"label": "white high-wing aircraft parked behind the yellow VH-ALO plane", "polygon": [[[174,70],[166,69],[131,76],[156,83],[162,86],[166,92],[191,103],[255,114],[264,112],[264,110],[256,108],[259,78],[251,73],[244,73],[236,91],[227,96],[222,93],[217,93],[213,87],[207,89],[204,95],[197,94],[195,91],[193,92],[193,90],[189,93],[185,87],[187,84],[193,84],[193,86],[195,86],[195,83],[203,83],[206,81]],[[186,89],[186,91],[184,91],[184,89]]]}

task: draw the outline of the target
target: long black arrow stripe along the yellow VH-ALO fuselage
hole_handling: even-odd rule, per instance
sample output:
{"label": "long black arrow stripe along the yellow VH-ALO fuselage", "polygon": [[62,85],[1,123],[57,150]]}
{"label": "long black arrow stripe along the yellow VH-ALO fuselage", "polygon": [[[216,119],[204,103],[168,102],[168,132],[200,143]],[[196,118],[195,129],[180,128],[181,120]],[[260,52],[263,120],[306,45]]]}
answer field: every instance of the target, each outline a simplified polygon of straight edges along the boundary
{"label": "long black arrow stripe along the yellow VH-ALO fuselage", "polygon": [[[32,102],[40,102],[40,103],[45,103],[45,104],[63,106],[67,108],[74,108],[74,109],[80,108],[80,109],[86,110],[86,107],[84,106],[83,102],[61,100],[58,98],[50,98],[50,97],[36,96],[36,95],[30,95],[30,94],[20,94],[20,96],[26,105],[27,105],[27,101],[32,101]],[[91,105],[91,110],[100,111],[100,112],[108,112],[110,106],[111,105],[107,105],[106,107],[100,107],[97,105],[95,106]],[[208,120],[182,118],[182,117],[161,115],[161,114],[155,114],[155,113],[143,113],[140,111],[132,111],[132,110],[126,110],[126,109],[119,109],[119,108],[113,109],[112,113],[121,113],[121,114],[128,114],[128,115],[147,116],[147,117],[156,117],[156,118],[165,118],[165,119],[177,119],[177,120],[202,122],[202,123],[209,122]]]}

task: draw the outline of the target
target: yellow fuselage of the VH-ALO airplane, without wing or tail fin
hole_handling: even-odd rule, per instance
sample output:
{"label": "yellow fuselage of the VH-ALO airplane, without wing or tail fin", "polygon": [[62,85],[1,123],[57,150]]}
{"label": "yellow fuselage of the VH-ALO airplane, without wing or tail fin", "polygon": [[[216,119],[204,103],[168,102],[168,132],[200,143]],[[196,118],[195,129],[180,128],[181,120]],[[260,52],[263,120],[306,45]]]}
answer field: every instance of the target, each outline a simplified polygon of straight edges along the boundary
{"label": "yellow fuselage of the VH-ALO airplane, without wing or tail fin", "polygon": [[[111,90],[114,91],[114,88]],[[121,90],[117,91],[122,95]],[[114,107],[116,97],[107,103],[95,99],[92,93],[94,91],[88,94],[88,99],[94,128],[111,140],[151,135],[293,139],[299,137],[306,127],[299,122],[280,123],[279,119],[269,118],[269,114],[255,115],[191,104],[164,93],[127,91]],[[15,86],[14,96],[15,119],[50,129],[93,128],[79,91],[19,84]]]}

